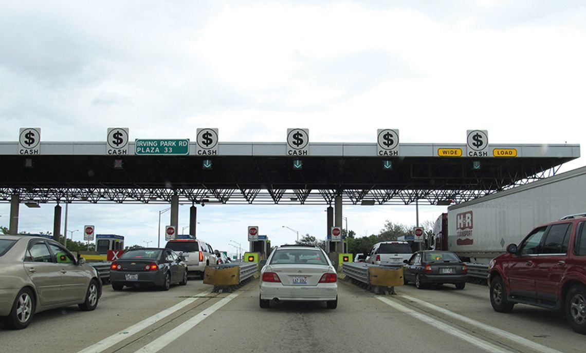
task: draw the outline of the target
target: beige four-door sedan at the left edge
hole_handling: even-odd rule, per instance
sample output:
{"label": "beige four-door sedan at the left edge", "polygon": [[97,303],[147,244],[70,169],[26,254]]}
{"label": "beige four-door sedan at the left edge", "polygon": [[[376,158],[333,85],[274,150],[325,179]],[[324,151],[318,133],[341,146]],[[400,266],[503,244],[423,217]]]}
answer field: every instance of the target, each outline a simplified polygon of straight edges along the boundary
{"label": "beige four-door sedan at the left edge", "polygon": [[43,310],[73,304],[96,309],[101,281],[84,262],[47,238],[0,235],[0,317],[21,329]]}

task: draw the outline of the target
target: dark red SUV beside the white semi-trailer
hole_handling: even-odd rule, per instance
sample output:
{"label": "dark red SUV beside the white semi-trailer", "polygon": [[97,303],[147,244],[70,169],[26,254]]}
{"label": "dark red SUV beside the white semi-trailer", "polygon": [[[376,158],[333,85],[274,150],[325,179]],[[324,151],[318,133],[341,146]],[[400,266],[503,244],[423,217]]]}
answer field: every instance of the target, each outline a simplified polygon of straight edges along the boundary
{"label": "dark red SUV beside the white semi-trailer", "polygon": [[490,304],[508,313],[517,303],[563,310],[586,334],[586,213],[532,230],[489,266]]}

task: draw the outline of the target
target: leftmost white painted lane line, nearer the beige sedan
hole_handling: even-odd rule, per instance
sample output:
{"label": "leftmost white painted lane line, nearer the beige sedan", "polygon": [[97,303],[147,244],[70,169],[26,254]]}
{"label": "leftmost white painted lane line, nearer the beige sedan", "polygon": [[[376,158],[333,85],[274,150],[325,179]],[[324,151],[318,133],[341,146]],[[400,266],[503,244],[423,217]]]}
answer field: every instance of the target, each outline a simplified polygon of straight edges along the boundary
{"label": "leftmost white painted lane line, nearer the beige sedan", "polygon": [[205,292],[199,293],[197,295],[194,295],[188,299],[185,299],[185,300],[183,300],[183,302],[179,302],[179,303],[175,304],[174,306],[170,307],[169,309],[165,309],[162,312],[154,314],[153,316],[148,317],[147,319],[144,319],[144,320],[140,321],[139,323],[136,323],[136,324],[132,325],[131,327],[128,327],[125,330],[122,330],[118,333],[115,333],[115,334],[111,335],[110,337],[106,337],[103,340],[101,340],[100,342],[97,342],[96,344],[90,345],[90,347],[82,349],[81,351],[79,351],[77,353],[100,353],[100,352],[103,352],[103,351],[105,351],[105,349],[112,347],[113,345],[117,344],[118,342],[125,340],[126,338],[130,337],[131,335],[134,335],[135,333],[137,333],[141,330],[144,330],[145,328],[151,326],[152,324],[156,323],[157,321],[164,319],[165,317],[171,315],[172,313],[176,312],[177,310],[182,309],[185,306],[188,306],[189,304],[195,302],[200,297],[207,296],[210,293],[212,293],[211,289],[206,290]]}

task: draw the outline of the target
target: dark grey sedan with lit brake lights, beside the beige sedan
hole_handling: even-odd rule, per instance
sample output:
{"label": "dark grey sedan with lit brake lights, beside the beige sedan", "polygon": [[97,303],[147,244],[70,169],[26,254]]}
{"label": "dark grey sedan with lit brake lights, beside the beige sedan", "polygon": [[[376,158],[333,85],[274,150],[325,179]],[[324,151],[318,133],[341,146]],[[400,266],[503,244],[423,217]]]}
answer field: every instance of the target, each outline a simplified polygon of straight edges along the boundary
{"label": "dark grey sedan with lit brake lights, beside the beige sedan", "polygon": [[124,286],[158,286],[169,290],[172,283],[187,284],[185,258],[171,249],[134,248],[112,262],[110,281],[114,290]]}

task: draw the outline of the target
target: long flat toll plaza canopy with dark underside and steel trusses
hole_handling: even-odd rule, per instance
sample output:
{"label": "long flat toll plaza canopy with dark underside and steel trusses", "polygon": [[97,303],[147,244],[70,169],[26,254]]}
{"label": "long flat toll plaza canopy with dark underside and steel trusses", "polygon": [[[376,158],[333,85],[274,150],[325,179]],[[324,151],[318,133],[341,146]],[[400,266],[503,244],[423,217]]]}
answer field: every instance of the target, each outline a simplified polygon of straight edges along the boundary
{"label": "long flat toll plaza canopy with dark underside and steel trusses", "polygon": [[[137,140],[138,141],[138,140]],[[200,155],[187,141],[181,154],[111,151],[104,142],[42,142],[36,151],[0,142],[0,202],[115,202],[346,205],[401,204],[419,200],[447,205],[556,174],[580,157],[578,144],[488,145],[401,143],[381,155],[376,143],[308,143],[304,154],[287,143],[217,144]],[[146,145],[145,145],[146,146]]]}

